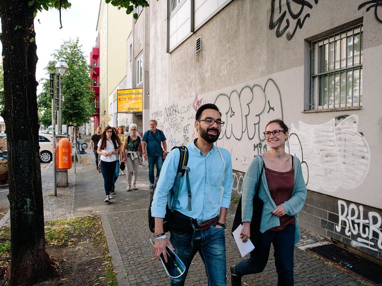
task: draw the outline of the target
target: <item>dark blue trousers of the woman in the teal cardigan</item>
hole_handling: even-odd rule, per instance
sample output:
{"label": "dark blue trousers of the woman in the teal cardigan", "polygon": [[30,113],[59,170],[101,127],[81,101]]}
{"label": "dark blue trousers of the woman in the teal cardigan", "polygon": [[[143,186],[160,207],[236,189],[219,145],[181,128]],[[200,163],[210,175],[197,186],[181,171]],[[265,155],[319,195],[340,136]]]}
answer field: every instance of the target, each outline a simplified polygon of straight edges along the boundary
{"label": "dark blue trousers of the woman in the teal cardigan", "polygon": [[242,260],[235,267],[234,274],[242,277],[263,271],[268,262],[271,243],[278,275],[277,286],[293,286],[294,224],[289,224],[281,231],[267,230],[261,234],[250,259]]}

